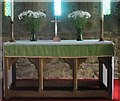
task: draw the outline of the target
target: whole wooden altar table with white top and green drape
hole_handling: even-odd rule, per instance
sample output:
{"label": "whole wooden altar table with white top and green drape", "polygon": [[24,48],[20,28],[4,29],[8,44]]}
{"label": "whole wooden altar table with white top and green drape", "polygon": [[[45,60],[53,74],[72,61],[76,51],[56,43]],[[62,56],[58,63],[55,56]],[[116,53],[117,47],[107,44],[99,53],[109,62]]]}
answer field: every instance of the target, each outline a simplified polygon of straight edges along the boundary
{"label": "whole wooden altar table with white top and green drape", "polygon": [[[114,71],[114,44],[111,41],[99,40],[61,40],[53,42],[52,40],[38,40],[35,42],[29,40],[17,40],[16,42],[5,42],[4,51],[4,97],[77,97],[77,98],[96,98],[103,97],[112,99],[113,95],[113,71]],[[9,84],[8,72],[15,69],[17,58],[36,59],[38,61],[38,88],[37,90],[15,89],[15,73],[12,73],[12,82]],[[78,65],[82,58],[98,57],[99,60],[99,80],[96,84],[99,88],[96,90],[79,90],[77,78]],[[43,79],[44,59],[46,58],[73,58],[73,83],[72,90],[45,90]],[[104,71],[104,68],[107,72]],[[107,81],[104,76],[107,73]],[[106,82],[106,83],[105,83]],[[55,83],[55,82],[54,82]],[[89,85],[88,82],[86,82]],[[104,89],[103,89],[104,88]]]}

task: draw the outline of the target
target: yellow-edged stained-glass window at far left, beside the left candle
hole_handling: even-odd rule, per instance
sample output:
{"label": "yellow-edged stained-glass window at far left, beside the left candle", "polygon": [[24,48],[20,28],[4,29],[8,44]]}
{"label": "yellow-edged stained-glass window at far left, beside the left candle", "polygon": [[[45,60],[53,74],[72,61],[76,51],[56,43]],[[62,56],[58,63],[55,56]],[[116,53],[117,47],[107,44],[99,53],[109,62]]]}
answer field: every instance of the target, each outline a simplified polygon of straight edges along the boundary
{"label": "yellow-edged stained-glass window at far left, beside the left candle", "polygon": [[4,0],[4,15],[11,16],[11,0]]}

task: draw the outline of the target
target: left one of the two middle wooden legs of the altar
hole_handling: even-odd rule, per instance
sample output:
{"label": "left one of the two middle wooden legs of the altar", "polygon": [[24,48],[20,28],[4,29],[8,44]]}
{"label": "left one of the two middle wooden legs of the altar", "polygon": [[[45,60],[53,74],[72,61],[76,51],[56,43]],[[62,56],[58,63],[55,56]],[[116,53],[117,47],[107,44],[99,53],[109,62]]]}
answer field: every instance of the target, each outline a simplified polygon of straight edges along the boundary
{"label": "left one of the two middle wooden legs of the altar", "polygon": [[43,58],[39,58],[39,67],[38,67],[38,81],[39,81],[39,91],[43,91]]}

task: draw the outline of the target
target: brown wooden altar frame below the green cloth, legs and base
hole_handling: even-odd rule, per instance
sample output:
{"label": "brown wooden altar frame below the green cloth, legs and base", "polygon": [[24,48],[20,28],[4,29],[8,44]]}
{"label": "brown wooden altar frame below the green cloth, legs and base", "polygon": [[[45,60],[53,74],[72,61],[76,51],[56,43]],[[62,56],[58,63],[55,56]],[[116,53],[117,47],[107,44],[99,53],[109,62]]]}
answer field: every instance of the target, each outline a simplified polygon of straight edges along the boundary
{"label": "brown wooden altar frame below the green cloth, legs and base", "polygon": [[[36,58],[38,61],[38,79],[16,79],[16,57],[4,57],[4,87],[3,93],[9,98],[106,98],[112,99],[112,57],[99,57],[99,79],[79,80],[77,67],[82,58],[74,58],[72,80],[44,80],[44,58]],[[107,86],[103,83],[103,64],[107,69]],[[8,72],[12,72],[12,80],[9,82]]]}

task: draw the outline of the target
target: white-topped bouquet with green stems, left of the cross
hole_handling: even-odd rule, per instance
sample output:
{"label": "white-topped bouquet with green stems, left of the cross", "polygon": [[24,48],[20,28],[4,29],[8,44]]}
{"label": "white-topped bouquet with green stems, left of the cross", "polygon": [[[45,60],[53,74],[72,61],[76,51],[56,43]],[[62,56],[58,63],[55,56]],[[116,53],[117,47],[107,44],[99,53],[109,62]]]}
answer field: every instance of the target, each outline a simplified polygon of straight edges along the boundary
{"label": "white-topped bouquet with green stems, left of the cross", "polygon": [[18,15],[18,19],[33,35],[39,29],[41,17],[46,17],[46,14],[41,11],[33,12],[32,10],[24,11]]}

